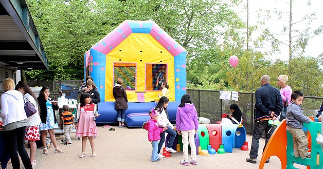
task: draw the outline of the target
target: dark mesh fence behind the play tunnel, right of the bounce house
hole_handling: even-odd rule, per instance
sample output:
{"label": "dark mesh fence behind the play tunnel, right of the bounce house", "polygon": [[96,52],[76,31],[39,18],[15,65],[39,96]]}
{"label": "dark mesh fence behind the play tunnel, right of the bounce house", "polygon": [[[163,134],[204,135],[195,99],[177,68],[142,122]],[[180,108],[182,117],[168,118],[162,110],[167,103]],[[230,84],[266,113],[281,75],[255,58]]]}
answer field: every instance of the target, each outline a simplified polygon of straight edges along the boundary
{"label": "dark mesh fence behind the play tunnel, right of the bounce house", "polygon": [[[222,100],[219,90],[187,89],[191,96],[199,117],[208,118],[211,123],[220,121],[222,114],[231,114],[229,109],[232,103],[236,103],[242,111],[243,125],[248,134],[253,133],[255,93],[239,92],[239,101]],[[316,116],[323,97],[304,96],[302,110],[306,116]]]}

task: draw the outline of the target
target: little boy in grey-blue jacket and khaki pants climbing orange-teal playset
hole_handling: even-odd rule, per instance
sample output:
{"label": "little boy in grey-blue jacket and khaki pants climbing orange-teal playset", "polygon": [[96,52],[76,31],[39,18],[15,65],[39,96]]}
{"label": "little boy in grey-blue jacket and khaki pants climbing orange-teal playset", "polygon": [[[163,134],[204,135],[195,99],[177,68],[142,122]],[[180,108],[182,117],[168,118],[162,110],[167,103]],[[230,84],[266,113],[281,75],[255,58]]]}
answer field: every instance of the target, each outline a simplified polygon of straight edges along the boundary
{"label": "little boy in grey-blue jacket and khaki pants climbing orange-teal playset", "polygon": [[292,102],[287,107],[286,111],[286,125],[287,130],[293,136],[295,149],[294,156],[295,158],[300,156],[302,159],[310,158],[311,154],[309,154],[306,150],[309,142],[307,141],[303,132],[303,123],[309,123],[312,120],[304,116],[303,111],[300,109],[304,99],[303,93],[296,90],[292,93],[291,99]]}

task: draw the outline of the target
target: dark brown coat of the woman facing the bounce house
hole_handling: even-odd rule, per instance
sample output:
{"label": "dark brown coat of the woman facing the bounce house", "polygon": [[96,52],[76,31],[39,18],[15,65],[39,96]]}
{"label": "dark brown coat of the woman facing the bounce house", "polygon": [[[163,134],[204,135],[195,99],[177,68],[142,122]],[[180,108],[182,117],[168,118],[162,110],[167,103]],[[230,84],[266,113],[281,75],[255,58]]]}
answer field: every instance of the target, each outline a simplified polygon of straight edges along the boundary
{"label": "dark brown coat of the woman facing the bounce house", "polygon": [[117,84],[112,89],[113,97],[116,100],[116,109],[128,108],[128,97],[123,86]]}

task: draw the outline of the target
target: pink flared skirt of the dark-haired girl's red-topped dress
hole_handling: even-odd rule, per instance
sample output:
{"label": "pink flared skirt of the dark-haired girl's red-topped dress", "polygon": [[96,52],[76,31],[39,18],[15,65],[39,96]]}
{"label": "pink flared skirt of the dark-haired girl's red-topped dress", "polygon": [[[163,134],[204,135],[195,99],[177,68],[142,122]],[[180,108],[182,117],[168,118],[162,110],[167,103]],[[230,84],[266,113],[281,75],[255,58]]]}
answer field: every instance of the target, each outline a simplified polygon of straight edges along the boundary
{"label": "pink flared skirt of the dark-haired girl's red-topped dress", "polygon": [[80,112],[80,119],[77,123],[77,130],[75,137],[98,137],[98,129],[95,124],[93,112]]}

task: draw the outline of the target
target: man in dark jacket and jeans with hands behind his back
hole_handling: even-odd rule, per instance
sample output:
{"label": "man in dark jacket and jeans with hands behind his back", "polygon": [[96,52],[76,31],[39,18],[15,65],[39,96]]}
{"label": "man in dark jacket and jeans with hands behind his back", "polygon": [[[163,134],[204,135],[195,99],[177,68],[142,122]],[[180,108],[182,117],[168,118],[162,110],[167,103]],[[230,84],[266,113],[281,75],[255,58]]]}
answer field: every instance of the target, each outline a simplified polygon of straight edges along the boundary
{"label": "man in dark jacket and jeans with hands behind his back", "polygon": [[[272,136],[275,129],[268,124],[268,120],[276,120],[282,110],[282,100],[278,88],[271,86],[270,77],[265,74],[261,77],[261,87],[256,90],[255,111],[254,111],[254,129],[253,140],[250,148],[249,156],[246,158],[247,162],[257,163],[259,139],[263,132],[265,132],[266,141],[263,151],[267,145],[268,140]],[[270,159],[266,160],[268,163]]]}

